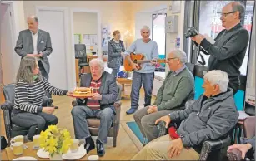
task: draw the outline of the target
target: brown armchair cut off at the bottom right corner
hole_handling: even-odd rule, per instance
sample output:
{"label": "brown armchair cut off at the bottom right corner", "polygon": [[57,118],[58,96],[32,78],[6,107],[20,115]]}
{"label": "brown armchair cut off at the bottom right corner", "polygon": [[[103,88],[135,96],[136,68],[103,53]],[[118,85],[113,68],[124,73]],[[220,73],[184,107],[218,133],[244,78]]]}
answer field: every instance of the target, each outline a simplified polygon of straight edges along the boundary
{"label": "brown armchair cut off at the bottom right corner", "polygon": [[[243,135],[244,138],[253,138],[253,136],[255,136],[255,121],[256,121],[256,117],[255,116],[250,116],[247,117],[244,121],[243,121]],[[248,151],[248,153],[250,153],[250,150]],[[246,160],[252,160],[253,156],[251,156],[250,154],[246,154],[246,157],[248,157]],[[232,149],[230,151],[228,151],[228,160],[242,160],[242,152],[238,149]]]}

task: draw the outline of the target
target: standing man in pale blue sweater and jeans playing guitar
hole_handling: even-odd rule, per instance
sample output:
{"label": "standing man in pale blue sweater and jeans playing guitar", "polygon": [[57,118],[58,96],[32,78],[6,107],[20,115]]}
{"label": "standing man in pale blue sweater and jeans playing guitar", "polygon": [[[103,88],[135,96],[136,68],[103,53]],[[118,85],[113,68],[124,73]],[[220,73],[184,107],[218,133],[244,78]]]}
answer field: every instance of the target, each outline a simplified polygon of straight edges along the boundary
{"label": "standing man in pale blue sweater and jeans playing guitar", "polygon": [[[128,61],[130,61],[133,66],[131,108],[126,111],[127,114],[133,114],[136,110],[138,110],[139,90],[142,85],[145,91],[144,107],[146,107],[147,105],[151,105],[154,70],[158,60],[158,44],[157,42],[149,38],[149,27],[144,26],[140,30],[140,32],[143,38],[134,41],[133,44],[128,48],[128,50],[124,52],[125,58],[128,59]],[[150,61],[150,63],[144,63],[141,66],[138,66],[138,64],[134,63],[131,60],[131,53],[143,53],[145,59],[152,61]]]}

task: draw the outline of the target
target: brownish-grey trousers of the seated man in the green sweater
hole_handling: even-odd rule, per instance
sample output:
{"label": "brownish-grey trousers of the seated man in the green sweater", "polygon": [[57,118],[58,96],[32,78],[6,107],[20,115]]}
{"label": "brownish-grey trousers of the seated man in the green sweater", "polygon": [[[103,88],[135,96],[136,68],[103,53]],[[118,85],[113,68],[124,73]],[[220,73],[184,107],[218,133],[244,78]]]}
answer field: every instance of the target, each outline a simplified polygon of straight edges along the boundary
{"label": "brownish-grey trousers of the seated man in the green sweater", "polygon": [[144,138],[148,139],[148,142],[158,138],[158,127],[155,125],[156,120],[164,115],[168,115],[173,110],[160,110],[153,114],[148,114],[148,106],[140,110],[137,110],[133,115],[135,122],[138,124],[138,128],[143,134]]}

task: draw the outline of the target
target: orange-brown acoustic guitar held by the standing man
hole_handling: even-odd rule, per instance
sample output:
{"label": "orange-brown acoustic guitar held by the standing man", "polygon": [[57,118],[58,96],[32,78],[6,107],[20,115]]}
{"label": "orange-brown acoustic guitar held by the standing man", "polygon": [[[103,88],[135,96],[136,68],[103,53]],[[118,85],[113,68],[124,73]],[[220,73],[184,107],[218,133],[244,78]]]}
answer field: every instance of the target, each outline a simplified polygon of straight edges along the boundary
{"label": "orange-brown acoustic guitar held by the standing man", "polygon": [[[138,70],[141,69],[141,64],[143,63],[150,63],[150,61],[152,60],[144,60],[143,54],[134,54],[133,52],[130,55],[131,60],[133,61],[133,63],[138,64],[139,68]],[[153,61],[157,61],[158,63],[165,63],[165,59],[158,59],[158,60],[153,60]],[[125,57],[124,61],[123,61],[123,66],[125,71],[133,71],[133,66],[130,63],[130,61],[128,60],[128,56]]]}

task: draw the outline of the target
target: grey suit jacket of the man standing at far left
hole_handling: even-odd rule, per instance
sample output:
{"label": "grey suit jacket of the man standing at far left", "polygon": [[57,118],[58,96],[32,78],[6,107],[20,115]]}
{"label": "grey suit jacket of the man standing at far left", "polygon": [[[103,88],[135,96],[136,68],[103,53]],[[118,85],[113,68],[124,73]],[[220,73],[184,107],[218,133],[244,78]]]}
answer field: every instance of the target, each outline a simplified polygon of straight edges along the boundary
{"label": "grey suit jacket of the man standing at far left", "polygon": [[[50,64],[48,61],[48,57],[52,51],[52,42],[51,37],[48,32],[45,32],[43,30],[38,30],[38,53],[43,52],[43,57],[40,57],[40,60],[42,61],[43,67],[47,73],[50,71]],[[30,30],[23,30],[19,32],[18,40],[16,42],[16,46],[14,48],[15,52],[22,56],[27,56],[27,54],[33,53],[33,39],[32,34]]]}

